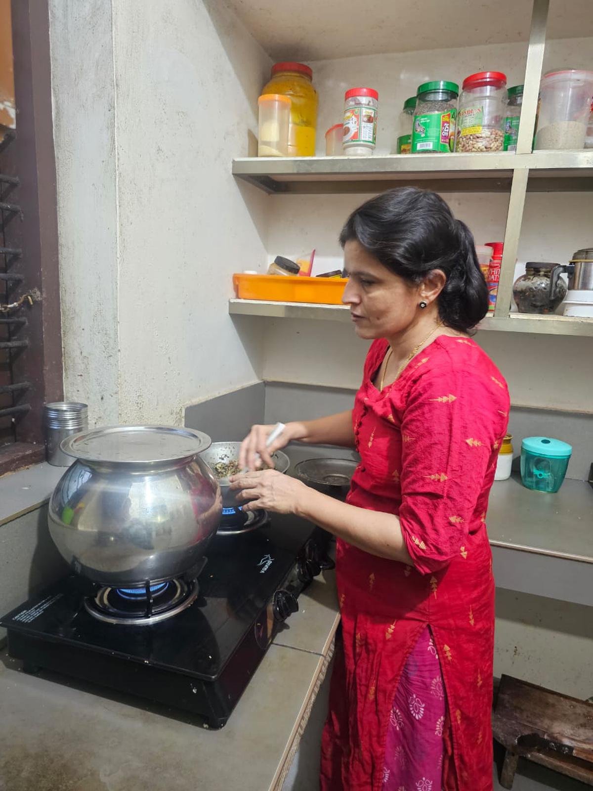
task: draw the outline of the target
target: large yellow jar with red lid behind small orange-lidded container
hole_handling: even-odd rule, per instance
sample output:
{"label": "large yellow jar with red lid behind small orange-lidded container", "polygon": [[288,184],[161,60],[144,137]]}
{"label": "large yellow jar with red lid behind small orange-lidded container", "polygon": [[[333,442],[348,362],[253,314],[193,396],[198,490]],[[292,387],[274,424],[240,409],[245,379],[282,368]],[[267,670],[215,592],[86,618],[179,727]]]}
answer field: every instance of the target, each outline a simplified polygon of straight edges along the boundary
{"label": "large yellow jar with red lid behind small orange-lidded container", "polygon": [[313,71],[304,63],[275,63],[271,79],[262,91],[290,97],[289,157],[315,157],[319,100],[312,79]]}

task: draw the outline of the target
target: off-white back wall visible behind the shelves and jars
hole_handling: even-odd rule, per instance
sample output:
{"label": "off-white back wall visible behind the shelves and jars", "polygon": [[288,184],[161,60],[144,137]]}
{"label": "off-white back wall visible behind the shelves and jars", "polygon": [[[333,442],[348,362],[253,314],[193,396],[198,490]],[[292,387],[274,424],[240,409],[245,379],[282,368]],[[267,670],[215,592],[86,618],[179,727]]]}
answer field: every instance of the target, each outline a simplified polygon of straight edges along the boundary
{"label": "off-white back wall visible behind the shelves and jars", "polygon": [[[314,62],[319,91],[319,148],[323,131],[340,119],[344,90],[369,85],[380,95],[378,153],[389,153],[398,135],[403,100],[427,79],[459,83],[486,68],[501,69],[508,85],[523,81],[527,45],[504,44],[395,55],[372,55]],[[546,47],[544,68],[593,68],[593,39],[555,40]],[[274,195],[268,199],[268,257],[315,254],[315,273],[341,266],[338,233],[349,212],[370,195]],[[502,240],[508,195],[443,194],[455,216],[465,221],[478,244]],[[593,244],[593,194],[527,195],[518,252],[518,273],[528,260],[568,261],[576,249]],[[357,387],[368,346],[345,324],[270,320],[266,327],[263,377],[308,384]],[[477,336],[507,377],[512,400],[534,407],[593,411],[591,340],[482,332]],[[291,353],[286,354],[287,348]]]}

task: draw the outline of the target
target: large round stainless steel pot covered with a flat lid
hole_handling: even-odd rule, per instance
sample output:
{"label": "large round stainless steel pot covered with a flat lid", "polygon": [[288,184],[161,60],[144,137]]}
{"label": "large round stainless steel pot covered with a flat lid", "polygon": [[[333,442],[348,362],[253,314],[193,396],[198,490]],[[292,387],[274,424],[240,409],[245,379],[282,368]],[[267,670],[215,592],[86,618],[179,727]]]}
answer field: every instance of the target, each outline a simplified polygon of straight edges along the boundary
{"label": "large round stainless steel pot covered with a flat lid", "polygon": [[217,531],[221,490],[198,456],[210,437],[167,426],[115,426],[62,441],[76,461],[51,496],[62,556],[101,585],[164,581],[196,566]]}

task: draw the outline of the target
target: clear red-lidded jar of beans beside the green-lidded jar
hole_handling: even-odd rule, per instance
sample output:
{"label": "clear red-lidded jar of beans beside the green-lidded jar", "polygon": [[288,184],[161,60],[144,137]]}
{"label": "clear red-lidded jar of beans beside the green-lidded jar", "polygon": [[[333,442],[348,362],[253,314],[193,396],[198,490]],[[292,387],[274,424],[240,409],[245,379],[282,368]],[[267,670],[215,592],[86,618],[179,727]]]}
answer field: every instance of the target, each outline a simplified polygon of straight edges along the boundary
{"label": "clear red-lidded jar of beans beside the green-lidded jar", "polygon": [[480,71],[463,81],[455,151],[503,150],[506,87],[506,75],[500,71]]}

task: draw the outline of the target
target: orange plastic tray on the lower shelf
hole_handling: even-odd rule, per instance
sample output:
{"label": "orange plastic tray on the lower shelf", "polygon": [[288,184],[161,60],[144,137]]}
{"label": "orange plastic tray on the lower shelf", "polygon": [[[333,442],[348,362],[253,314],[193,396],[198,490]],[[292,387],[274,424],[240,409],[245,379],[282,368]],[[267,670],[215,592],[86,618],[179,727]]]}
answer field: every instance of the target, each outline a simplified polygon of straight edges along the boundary
{"label": "orange plastic tray on the lower shelf", "polygon": [[233,274],[232,282],[239,299],[342,305],[342,294],[348,281],[342,278],[293,278],[285,274]]}

